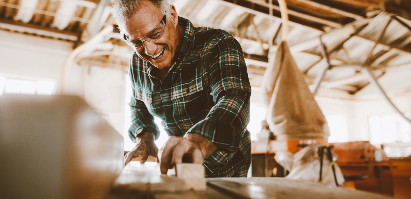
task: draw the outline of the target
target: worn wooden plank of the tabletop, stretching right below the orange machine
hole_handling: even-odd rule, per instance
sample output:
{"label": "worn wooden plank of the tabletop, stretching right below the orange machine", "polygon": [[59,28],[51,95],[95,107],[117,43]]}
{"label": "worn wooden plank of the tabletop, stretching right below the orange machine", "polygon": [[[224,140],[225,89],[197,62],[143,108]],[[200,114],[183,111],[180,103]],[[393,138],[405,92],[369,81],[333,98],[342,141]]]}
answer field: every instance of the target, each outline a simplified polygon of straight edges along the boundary
{"label": "worn wooden plank of the tabletop, stretching right below the orange machine", "polygon": [[208,185],[243,199],[392,199],[381,194],[288,178],[215,178]]}

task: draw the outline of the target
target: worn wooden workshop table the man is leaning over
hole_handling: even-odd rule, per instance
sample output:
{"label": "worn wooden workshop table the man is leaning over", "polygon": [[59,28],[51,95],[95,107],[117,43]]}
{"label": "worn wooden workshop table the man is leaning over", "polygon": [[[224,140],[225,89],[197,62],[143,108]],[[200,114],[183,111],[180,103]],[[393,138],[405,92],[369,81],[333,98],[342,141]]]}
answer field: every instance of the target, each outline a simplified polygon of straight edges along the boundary
{"label": "worn wooden workshop table the man is leaning over", "polygon": [[108,199],[389,199],[369,192],[287,178],[211,178],[207,190],[186,191],[184,181],[160,174],[159,164],[130,162]]}

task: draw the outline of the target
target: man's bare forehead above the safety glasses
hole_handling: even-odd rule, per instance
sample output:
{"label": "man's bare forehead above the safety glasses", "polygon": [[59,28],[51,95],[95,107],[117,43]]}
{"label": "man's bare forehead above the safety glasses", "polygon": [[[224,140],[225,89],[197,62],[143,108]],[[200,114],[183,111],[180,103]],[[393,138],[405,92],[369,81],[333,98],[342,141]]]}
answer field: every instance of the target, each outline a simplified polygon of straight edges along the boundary
{"label": "man's bare forehead above the safety glasses", "polygon": [[160,8],[149,1],[141,1],[139,9],[130,16],[123,27],[125,34],[143,37],[160,23],[163,14]]}

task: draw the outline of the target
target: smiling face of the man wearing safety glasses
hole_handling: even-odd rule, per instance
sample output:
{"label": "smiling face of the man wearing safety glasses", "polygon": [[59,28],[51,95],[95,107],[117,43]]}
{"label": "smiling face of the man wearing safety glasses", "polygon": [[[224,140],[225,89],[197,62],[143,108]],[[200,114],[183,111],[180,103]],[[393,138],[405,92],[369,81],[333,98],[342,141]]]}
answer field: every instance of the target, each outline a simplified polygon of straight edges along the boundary
{"label": "smiling face of the man wearing safety glasses", "polygon": [[125,25],[122,25],[122,30],[128,40],[133,41],[142,38],[143,47],[136,48],[132,45],[139,57],[159,69],[171,66],[182,43],[180,39],[181,31],[177,25],[178,15],[173,5],[171,5],[169,12],[171,18],[166,19],[163,34],[154,42],[144,40],[148,37],[156,37],[155,34],[159,32],[159,25],[164,13],[151,2],[142,1],[136,13],[128,18]]}

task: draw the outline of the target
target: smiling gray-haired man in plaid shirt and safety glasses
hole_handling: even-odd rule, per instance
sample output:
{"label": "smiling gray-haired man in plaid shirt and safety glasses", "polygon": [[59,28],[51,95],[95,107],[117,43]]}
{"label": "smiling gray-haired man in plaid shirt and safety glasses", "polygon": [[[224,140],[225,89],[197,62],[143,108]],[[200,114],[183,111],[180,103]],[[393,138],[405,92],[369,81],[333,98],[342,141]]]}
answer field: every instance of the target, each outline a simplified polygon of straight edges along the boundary
{"label": "smiling gray-haired man in plaid shirt and safety glasses", "polygon": [[[227,32],[196,28],[166,0],[118,0],[113,15],[134,48],[129,137],[162,173],[182,162],[203,163],[206,177],[245,177],[251,163],[251,88],[240,44]],[[169,140],[154,140],[162,120]],[[158,156],[157,156],[158,152]]]}

